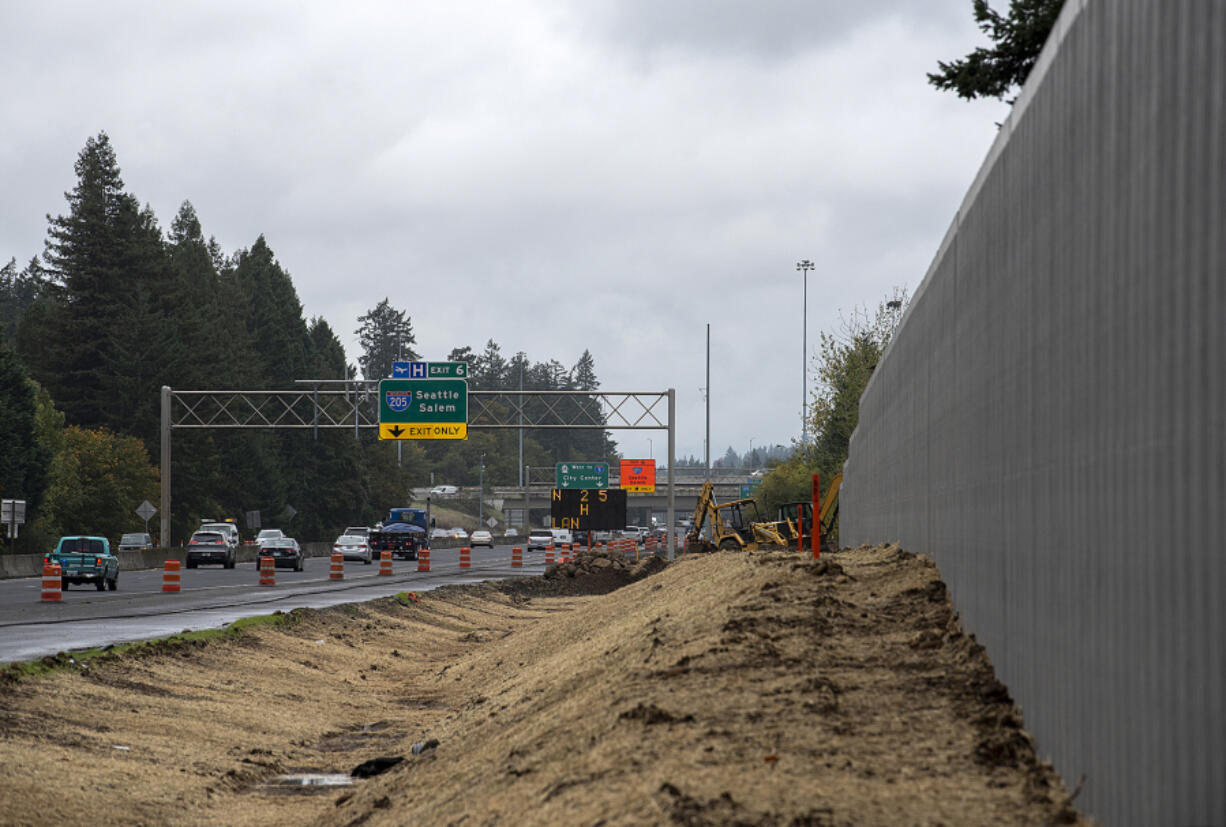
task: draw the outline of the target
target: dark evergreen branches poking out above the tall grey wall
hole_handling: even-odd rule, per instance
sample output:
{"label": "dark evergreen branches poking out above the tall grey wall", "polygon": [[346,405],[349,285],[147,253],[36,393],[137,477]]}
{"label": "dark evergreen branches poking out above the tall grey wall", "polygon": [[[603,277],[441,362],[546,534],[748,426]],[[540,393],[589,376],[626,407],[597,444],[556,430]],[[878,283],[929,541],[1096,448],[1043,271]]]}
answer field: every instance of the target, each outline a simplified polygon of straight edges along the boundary
{"label": "dark evergreen branches poking out above the tall grey wall", "polygon": [[994,11],[987,0],[972,0],[971,6],[976,25],[994,45],[977,48],[960,60],[937,61],[940,71],[931,72],[928,82],[967,100],[1003,99],[1026,82],[1064,0],[1010,0],[1007,16]]}

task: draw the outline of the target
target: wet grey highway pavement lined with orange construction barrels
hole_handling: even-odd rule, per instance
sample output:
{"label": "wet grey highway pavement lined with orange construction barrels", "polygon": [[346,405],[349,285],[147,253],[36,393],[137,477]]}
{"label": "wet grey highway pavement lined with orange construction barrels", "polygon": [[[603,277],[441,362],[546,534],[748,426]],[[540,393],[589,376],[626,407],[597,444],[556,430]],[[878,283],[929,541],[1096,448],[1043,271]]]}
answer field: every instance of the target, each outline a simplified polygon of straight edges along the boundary
{"label": "wet grey highway pavement lined with orange construction barrels", "polygon": [[460,568],[460,549],[436,549],[430,571],[416,560],[396,560],[394,575],[379,575],[379,562],[345,564],[345,580],[330,578],[327,557],[309,557],[304,571],[277,570],[276,586],[260,586],[255,564],[181,571],[181,591],[162,592],[162,570],[123,571],[119,589],[98,592],[74,586],[59,603],[42,600],[42,578],[0,581],[0,664],[31,660],[71,648],[141,641],[185,629],[219,629],[240,617],[320,609],[397,592],[425,592],[451,583],[501,580],[544,571],[543,551],[524,551],[524,567],[511,567],[511,546],[472,549],[472,567]]}

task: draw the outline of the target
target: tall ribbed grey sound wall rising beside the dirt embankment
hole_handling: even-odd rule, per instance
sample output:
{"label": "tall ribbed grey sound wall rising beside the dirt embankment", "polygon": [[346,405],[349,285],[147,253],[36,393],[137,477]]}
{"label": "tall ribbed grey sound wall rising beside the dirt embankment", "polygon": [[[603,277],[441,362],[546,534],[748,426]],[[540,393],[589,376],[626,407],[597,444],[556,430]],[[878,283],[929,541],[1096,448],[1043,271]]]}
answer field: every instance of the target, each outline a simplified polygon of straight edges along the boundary
{"label": "tall ribbed grey sound wall rising beside the dirt embankment", "polygon": [[1226,2],[1068,0],[861,402],[847,544],[940,566],[1112,825],[1226,823]]}

